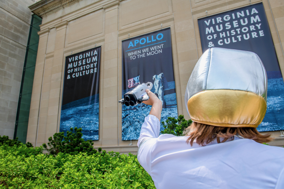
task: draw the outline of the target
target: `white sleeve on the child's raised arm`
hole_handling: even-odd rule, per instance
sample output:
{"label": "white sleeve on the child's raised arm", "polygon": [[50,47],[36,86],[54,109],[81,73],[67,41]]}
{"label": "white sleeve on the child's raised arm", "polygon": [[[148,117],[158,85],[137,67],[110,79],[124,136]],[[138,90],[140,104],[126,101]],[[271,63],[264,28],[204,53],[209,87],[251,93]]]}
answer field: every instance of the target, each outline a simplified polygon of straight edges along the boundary
{"label": "white sleeve on the child's raised arm", "polygon": [[137,159],[140,165],[151,175],[151,152],[160,134],[160,121],[154,115],[145,117],[138,139]]}

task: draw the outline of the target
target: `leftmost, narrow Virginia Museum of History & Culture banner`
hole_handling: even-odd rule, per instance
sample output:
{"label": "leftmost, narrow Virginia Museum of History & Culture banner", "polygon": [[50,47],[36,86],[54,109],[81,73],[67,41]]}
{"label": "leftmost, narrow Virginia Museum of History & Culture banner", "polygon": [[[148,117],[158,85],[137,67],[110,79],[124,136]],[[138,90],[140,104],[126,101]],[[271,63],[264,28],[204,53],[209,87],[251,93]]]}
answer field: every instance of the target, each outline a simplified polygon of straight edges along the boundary
{"label": "leftmost, narrow Virginia Museum of History & Culture banner", "polygon": [[60,132],[82,128],[84,140],[99,139],[101,47],[66,57]]}

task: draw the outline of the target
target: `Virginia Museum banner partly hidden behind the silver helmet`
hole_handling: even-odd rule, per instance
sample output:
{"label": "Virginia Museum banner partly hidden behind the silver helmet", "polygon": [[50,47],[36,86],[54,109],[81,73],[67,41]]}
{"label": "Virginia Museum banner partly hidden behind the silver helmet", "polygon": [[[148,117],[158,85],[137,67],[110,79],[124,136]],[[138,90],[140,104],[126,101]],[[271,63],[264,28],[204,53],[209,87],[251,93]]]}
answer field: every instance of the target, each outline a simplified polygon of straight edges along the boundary
{"label": "Virginia Museum banner partly hidden behind the silver helmet", "polygon": [[267,111],[258,131],[284,129],[284,82],[262,3],[198,20],[202,51],[211,47],[255,52],[267,71]]}

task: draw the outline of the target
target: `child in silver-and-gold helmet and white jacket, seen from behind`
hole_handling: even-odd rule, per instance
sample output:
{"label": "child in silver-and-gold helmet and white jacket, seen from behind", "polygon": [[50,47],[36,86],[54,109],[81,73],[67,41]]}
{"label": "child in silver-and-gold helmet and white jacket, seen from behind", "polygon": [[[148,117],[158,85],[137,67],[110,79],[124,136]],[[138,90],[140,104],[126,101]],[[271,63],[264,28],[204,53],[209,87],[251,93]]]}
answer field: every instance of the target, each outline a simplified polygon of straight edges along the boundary
{"label": "child in silver-and-gold helmet and white jacket, seen from behind", "polygon": [[157,189],[284,188],[284,148],[256,127],[266,112],[267,76],[253,52],[211,48],[189,78],[185,104],[194,121],[184,137],[159,135],[162,102],[142,125],[137,158]]}

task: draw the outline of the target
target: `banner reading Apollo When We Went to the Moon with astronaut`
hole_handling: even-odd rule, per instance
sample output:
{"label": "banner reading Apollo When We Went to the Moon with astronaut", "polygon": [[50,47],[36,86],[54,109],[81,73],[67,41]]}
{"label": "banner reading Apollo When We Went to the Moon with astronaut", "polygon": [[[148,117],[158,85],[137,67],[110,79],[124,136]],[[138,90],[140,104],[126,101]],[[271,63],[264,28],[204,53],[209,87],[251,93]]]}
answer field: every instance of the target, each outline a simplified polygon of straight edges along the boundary
{"label": "banner reading Apollo When We Went to the Moon with astronaut", "polygon": [[[161,121],[177,117],[170,28],[122,41],[122,98],[139,83],[152,82],[163,103]],[[122,106],[122,140],[137,140],[151,106]],[[161,128],[161,130],[164,128]]]}

